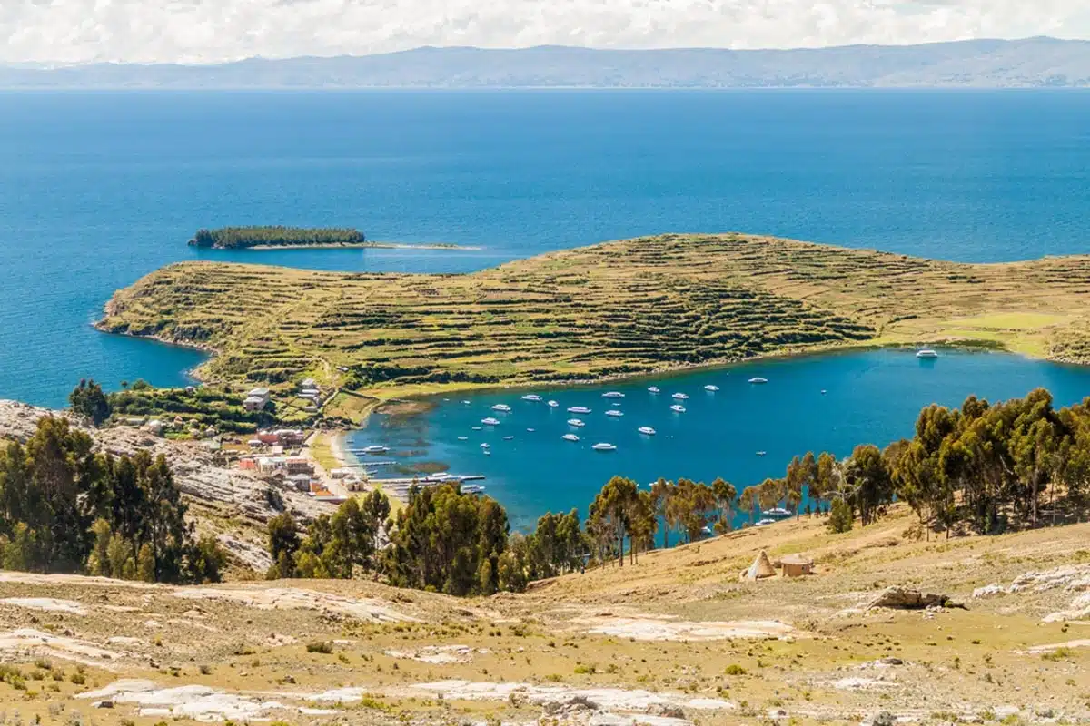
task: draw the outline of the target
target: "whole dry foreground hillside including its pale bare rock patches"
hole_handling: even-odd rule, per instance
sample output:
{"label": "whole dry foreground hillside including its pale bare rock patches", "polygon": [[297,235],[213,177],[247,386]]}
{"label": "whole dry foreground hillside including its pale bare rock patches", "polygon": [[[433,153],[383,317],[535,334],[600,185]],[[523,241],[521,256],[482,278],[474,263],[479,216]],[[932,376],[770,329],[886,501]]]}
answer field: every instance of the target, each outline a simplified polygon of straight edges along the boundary
{"label": "whole dry foreground hillside including its pale bare rock patches", "polygon": [[[473,601],[0,573],[0,723],[1090,719],[1090,525],[925,542],[913,521],[800,519]],[[761,550],[816,574],[740,582]],[[889,585],[967,610],[868,610]]]}

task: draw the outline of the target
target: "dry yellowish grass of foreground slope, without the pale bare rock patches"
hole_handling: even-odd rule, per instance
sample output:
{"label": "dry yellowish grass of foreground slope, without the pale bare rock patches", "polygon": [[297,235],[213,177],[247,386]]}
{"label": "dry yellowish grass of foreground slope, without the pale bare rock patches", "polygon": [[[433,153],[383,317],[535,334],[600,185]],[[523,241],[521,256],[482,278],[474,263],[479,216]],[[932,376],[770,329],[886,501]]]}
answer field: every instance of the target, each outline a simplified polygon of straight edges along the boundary
{"label": "dry yellowish grass of foreground slope, without the pale bare rock patches", "polygon": [[[414,684],[458,678],[470,681],[521,681],[545,687],[613,687],[659,693],[686,691],[689,698],[725,698],[734,712],[689,712],[701,724],[761,723],[770,710],[784,710],[795,723],[859,723],[888,711],[915,723],[942,724],[952,714],[992,719],[1003,706],[1022,711],[1054,710],[1067,723],[1090,717],[1086,701],[1090,648],[1073,647],[1054,659],[1029,648],[1087,638],[1087,625],[1043,623],[1079,592],[1058,587],[1026,589],[994,599],[970,600],[974,586],[1057,566],[1085,564],[1090,526],[1078,525],[997,538],[916,542],[903,539],[915,517],[905,507],[867,529],[831,536],[819,519],[797,520],[748,530],[706,542],[641,557],[623,569],[607,567],[537,583],[522,595],[457,601],[443,595],[399,591],[366,581],[292,581],[223,586],[254,592],[254,604],[181,599],[168,589],[146,590],[124,583],[80,579],[33,583],[0,576],[0,630],[28,627],[26,611],[5,598],[74,600],[89,612],[74,616],[36,612],[33,627],[68,632],[93,643],[117,636],[137,641],[112,644],[126,656],[87,668],[87,682],[31,681],[35,696],[0,684],[0,710],[14,706],[24,718],[46,715],[47,704],[89,713],[86,700],[73,697],[118,678],[148,678],[166,687],[208,685],[235,692],[314,693],[338,686],[363,688],[373,700],[352,701],[329,716],[278,715],[288,723],[392,723],[404,714],[422,725],[482,722],[534,723],[541,707],[516,699],[441,702],[409,698]],[[818,574],[800,580],[739,582],[737,574],[761,549],[774,557],[807,552]],[[19,579],[20,576],[14,576]],[[937,614],[852,612],[876,588],[892,583],[946,592],[967,600],[968,611]],[[411,624],[363,625],[314,611],[268,610],[262,593],[279,588],[368,599],[417,618]],[[298,592],[298,591],[296,591]],[[279,593],[282,594],[282,593]],[[108,608],[116,610],[108,610]],[[132,612],[117,608],[134,608]],[[316,608],[320,610],[320,608]],[[640,641],[589,632],[591,623],[621,617],[659,618],[666,623],[716,623],[773,619],[799,629],[787,640],[735,638],[712,641]],[[199,627],[193,623],[198,622]],[[307,653],[304,644],[337,640],[332,655]],[[467,644],[468,663],[433,664],[399,660],[389,651],[425,645]],[[903,666],[868,667],[875,659],[895,656]],[[34,656],[10,657],[26,672]],[[65,673],[74,664],[52,659]],[[210,666],[201,673],[199,666]],[[591,669],[589,666],[593,665]],[[738,666],[743,673],[729,666]],[[286,681],[288,676],[291,681]],[[888,686],[838,688],[845,678],[886,679]],[[277,697],[288,703],[298,698]],[[304,703],[305,704],[305,703]],[[378,706],[378,707],[376,707]],[[98,723],[133,714],[130,704],[102,715]],[[998,715],[996,715],[998,714]],[[138,719],[155,723],[158,717]],[[187,719],[171,723],[192,723]],[[53,723],[47,718],[46,723]],[[564,722],[569,723],[569,722]],[[585,722],[570,722],[585,723]],[[766,722],[765,722],[766,723]],[[785,722],[786,723],[786,722]]]}

